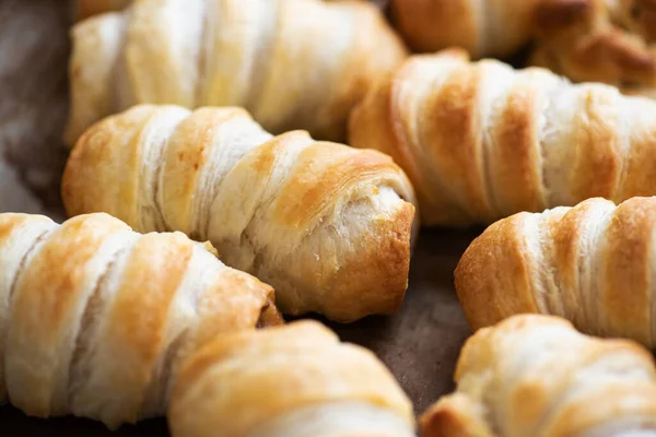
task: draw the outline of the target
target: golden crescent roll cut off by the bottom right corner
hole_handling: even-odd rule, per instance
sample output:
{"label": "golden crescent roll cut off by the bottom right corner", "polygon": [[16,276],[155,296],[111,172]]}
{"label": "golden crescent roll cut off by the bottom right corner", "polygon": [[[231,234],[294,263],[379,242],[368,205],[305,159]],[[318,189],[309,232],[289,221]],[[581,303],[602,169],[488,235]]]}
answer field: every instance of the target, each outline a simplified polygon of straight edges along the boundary
{"label": "golden crescent roll cut off by the bottom right corner", "polygon": [[423,437],[656,436],[652,355],[557,317],[515,316],[478,331],[455,379],[456,392],[422,415]]}

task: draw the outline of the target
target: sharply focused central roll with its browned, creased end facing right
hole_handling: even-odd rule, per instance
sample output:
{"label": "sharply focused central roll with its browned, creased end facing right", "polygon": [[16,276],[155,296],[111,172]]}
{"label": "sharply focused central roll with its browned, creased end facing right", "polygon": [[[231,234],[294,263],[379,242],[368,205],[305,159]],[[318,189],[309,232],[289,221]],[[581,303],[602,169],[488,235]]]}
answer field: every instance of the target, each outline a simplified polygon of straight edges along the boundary
{"label": "sharply focused central roll with its browned, creased end facing right", "polygon": [[90,129],[69,158],[70,215],[210,240],[277,291],[288,314],[391,314],[408,283],[414,193],[376,151],[272,137],[239,108],[138,106]]}

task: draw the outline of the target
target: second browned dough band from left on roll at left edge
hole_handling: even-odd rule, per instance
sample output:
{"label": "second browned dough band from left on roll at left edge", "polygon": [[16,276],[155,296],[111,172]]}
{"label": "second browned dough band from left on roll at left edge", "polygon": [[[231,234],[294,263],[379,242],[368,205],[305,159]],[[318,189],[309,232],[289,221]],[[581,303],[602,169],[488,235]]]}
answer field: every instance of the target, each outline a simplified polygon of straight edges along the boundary
{"label": "second browned dough band from left on roll at left edge", "polygon": [[[54,399],[61,383],[58,377],[68,374],[70,366],[61,350],[71,342],[78,328],[71,320],[89,293],[85,267],[112,236],[128,229],[106,214],[73,218],[48,237],[16,280],[3,352],[10,399],[28,415],[65,413],[52,404],[61,402]],[[70,244],[74,240],[81,244]],[[23,359],[34,364],[27,367],[20,363]]]}

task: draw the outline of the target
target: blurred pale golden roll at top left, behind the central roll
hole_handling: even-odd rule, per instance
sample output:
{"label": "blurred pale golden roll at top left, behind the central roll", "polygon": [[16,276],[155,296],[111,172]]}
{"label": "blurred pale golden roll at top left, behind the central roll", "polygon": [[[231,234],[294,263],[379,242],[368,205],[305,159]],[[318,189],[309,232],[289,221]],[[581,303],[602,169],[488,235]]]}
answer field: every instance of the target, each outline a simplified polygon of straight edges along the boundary
{"label": "blurred pale golden roll at top left, behind the central roll", "polygon": [[342,140],[353,105],[406,56],[363,1],[141,0],[72,38],[69,144],[147,103],[242,106],[276,133]]}

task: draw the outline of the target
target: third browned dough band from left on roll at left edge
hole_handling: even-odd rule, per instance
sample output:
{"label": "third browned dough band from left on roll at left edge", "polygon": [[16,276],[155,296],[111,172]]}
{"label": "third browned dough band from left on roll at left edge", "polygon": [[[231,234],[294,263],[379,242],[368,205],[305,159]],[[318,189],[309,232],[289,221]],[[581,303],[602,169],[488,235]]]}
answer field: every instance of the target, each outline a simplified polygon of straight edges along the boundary
{"label": "third browned dough band from left on roll at left edge", "polygon": [[[143,402],[143,393],[148,392],[153,383],[153,367],[157,359],[162,359],[164,351],[169,350],[167,344],[166,328],[172,316],[172,306],[178,290],[184,287],[185,274],[192,262],[195,244],[183,234],[147,234],[132,246],[126,259],[122,279],[114,291],[113,302],[103,315],[105,329],[98,334],[96,353],[102,351],[105,356],[120,357],[120,365],[114,364],[113,373],[118,376],[107,378],[105,381],[94,381],[96,393],[108,393],[116,391],[118,397],[112,395],[115,402],[122,400],[121,408],[115,406],[125,414],[128,422],[137,422],[143,413],[140,403]],[[219,294],[215,295],[219,297]],[[93,296],[89,306],[94,305]],[[259,309],[250,308],[259,311]],[[199,315],[200,316],[200,315]],[[221,311],[214,314],[223,318]],[[201,319],[202,316],[199,317]],[[234,321],[234,320],[233,320]],[[90,324],[93,322],[89,322]],[[200,323],[198,323],[200,324]],[[210,327],[196,329],[204,331],[208,335],[215,335],[222,330],[211,330]],[[254,323],[234,323],[235,329],[251,328]],[[87,328],[89,329],[89,328]],[[191,332],[189,332],[191,334]],[[78,340],[81,341],[81,340]],[[186,352],[186,351],[184,351]],[[188,353],[188,352],[187,352]],[[181,356],[181,354],[180,354]],[[83,353],[79,355],[79,362],[85,358]],[[176,357],[177,358],[177,357]],[[121,375],[122,374],[122,375]],[[173,378],[173,375],[167,375]],[[84,378],[79,375],[78,378]],[[75,386],[83,385],[71,381]],[[78,388],[72,406],[74,412],[83,402],[92,402],[82,390]],[[103,394],[99,394],[103,395]],[[136,403],[133,399],[141,402]],[[165,405],[163,400],[159,404]],[[163,406],[161,406],[163,409]],[[162,410],[160,410],[161,414]],[[105,417],[101,416],[101,420]],[[107,418],[109,421],[109,418]]]}

